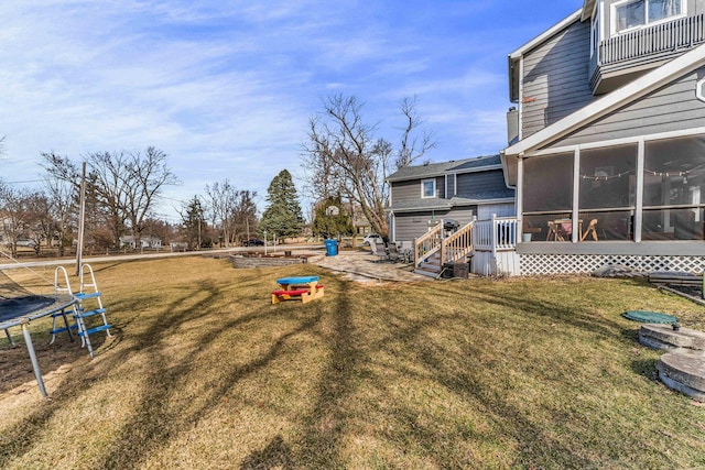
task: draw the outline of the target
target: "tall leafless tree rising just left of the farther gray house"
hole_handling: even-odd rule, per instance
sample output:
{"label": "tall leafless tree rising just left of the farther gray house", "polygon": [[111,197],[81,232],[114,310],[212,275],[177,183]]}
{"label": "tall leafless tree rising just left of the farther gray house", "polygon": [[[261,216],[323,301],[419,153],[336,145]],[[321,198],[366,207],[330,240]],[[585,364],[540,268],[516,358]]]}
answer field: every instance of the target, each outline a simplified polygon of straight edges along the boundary
{"label": "tall leafless tree rising just left of the farther gray house", "polygon": [[[393,147],[387,140],[375,138],[376,127],[364,122],[364,105],[357,98],[336,95],[324,99],[323,106],[323,112],[308,122],[308,142],[304,144],[308,188],[317,198],[343,196],[360,208],[372,230],[386,236],[384,208],[390,194],[387,176]],[[406,125],[398,166],[420,159],[435,145],[431,135],[425,134],[421,141],[414,138],[421,123],[415,107],[415,98],[400,103]]]}

